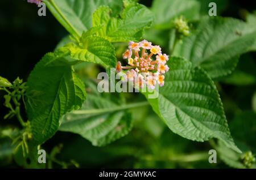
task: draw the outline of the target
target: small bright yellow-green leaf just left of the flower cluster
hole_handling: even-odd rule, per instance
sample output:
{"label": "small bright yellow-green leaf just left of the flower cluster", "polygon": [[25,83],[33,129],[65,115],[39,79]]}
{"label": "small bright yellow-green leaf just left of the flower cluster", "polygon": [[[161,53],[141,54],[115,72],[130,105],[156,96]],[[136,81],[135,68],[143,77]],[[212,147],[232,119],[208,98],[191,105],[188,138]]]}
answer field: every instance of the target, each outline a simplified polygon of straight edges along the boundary
{"label": "small bright yellow-green leaf just left of the flower cluster", "polygon": [[98,63],[105,68],[115,67],[114,46],[102,37],[83,33],[79,45],[70,43],[65,48],[69,50],[73,59]]}

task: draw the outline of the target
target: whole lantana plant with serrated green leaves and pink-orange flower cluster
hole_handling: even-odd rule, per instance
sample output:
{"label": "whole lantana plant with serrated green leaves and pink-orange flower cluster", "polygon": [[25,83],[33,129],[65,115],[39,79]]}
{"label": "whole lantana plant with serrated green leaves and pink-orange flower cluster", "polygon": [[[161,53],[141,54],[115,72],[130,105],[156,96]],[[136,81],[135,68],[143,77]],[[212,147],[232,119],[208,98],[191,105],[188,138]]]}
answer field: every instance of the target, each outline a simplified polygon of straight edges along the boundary
{"label": "whole lantana plant with serrated green leaves and pink-orange flower cluster", "polygon": [[[214,83],[233,72],[241,54],[254,49],[255,32],[250,25],[231,18],[201,17],[196,0],[154,0],[151,9],[132,0],[88,1],[27,1],[46,3],[69,36],[40,59],[27,82],[18,78],[10,83],[0,77],[9,109],[5,118],[16,116],[20,122],[20,128],[0,131],[5,132],[0,138],[13,140],[14,155],[22,155],[21,164],[28,166],[30,160],[28,167],[40,166],[38,149],[57,131],[79,134],[96,146],[112,143],[131,131],[134,114],[150,107],[150,117],[162,120],[175,134],[196,142],[209,140],[209,147],[217,149],[224,161],[229,152],[236,166],[253,167],[253,153],[238,147],[232,138]],[[175,7],[179,4],[189,13]],[[165,7],[171,7],[172,13],[163,11]],[[92,64],[100,68],[91,68]],[[77,70],[82,65],[91,71],[124,72],[125,81],[157,91],[159,96],[97,92],[96,77],[90,81]],[[20,113],[22,105],[26,117]],[[64,168],[78,166],[74,161],[56,160],[57,152],[60,148],[53,148],[48,156],[48,168],[52,162]],[[166,152],[161,149],[160,153],[164,157]]]}

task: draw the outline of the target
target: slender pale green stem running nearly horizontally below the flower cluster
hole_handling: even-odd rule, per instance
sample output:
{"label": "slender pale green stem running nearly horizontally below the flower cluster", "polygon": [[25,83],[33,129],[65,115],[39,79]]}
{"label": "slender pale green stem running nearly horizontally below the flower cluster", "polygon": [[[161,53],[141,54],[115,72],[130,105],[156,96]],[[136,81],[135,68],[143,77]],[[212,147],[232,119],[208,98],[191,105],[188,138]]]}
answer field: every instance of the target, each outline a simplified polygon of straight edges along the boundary
{"label": "slender pale green stem running nearly horizontally below the flower cluster", "polygon": [[131,108],[138,108],[141,106],[149,105],[147,101],[144,102],[136,102],[127,105],[117,106],[115,108],[105,108],[105,109],[88,109],[88,110],[75,110],[72,112],[73,114],[97,114],[97,113],[108,113],[108,112],[115,112],[117,110],[124,110],[124,109],[131,109]]}

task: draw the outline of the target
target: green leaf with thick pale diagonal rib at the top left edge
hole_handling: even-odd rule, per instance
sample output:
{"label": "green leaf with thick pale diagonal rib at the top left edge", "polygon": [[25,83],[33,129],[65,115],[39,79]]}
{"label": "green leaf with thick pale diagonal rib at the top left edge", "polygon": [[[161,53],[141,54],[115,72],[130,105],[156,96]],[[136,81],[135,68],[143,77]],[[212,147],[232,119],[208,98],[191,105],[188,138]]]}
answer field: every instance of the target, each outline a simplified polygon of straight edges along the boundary
{"label": "green leaf with thick pale diagonal rib at the top left edge", "polygon": [[73,36],[80,37],[82,32],[92,27],[92,13],[101,5],[108,5],[114,12],[122,7],[122,0],[45,0],[55,18]]}

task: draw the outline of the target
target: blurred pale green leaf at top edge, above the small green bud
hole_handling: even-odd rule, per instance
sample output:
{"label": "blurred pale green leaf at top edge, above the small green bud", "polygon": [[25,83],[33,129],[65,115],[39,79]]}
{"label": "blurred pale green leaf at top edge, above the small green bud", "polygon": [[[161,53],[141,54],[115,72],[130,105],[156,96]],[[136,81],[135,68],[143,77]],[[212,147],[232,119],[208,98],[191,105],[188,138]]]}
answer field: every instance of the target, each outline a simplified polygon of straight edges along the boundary
{"label": "blurred pale green leaf at top edge, above the small green bud", "polygon": [[170,28],[171,22],[180,15],[188,20],[199,18],[200,3],[194,0],[154,0],[152,12],[158,28]]}

